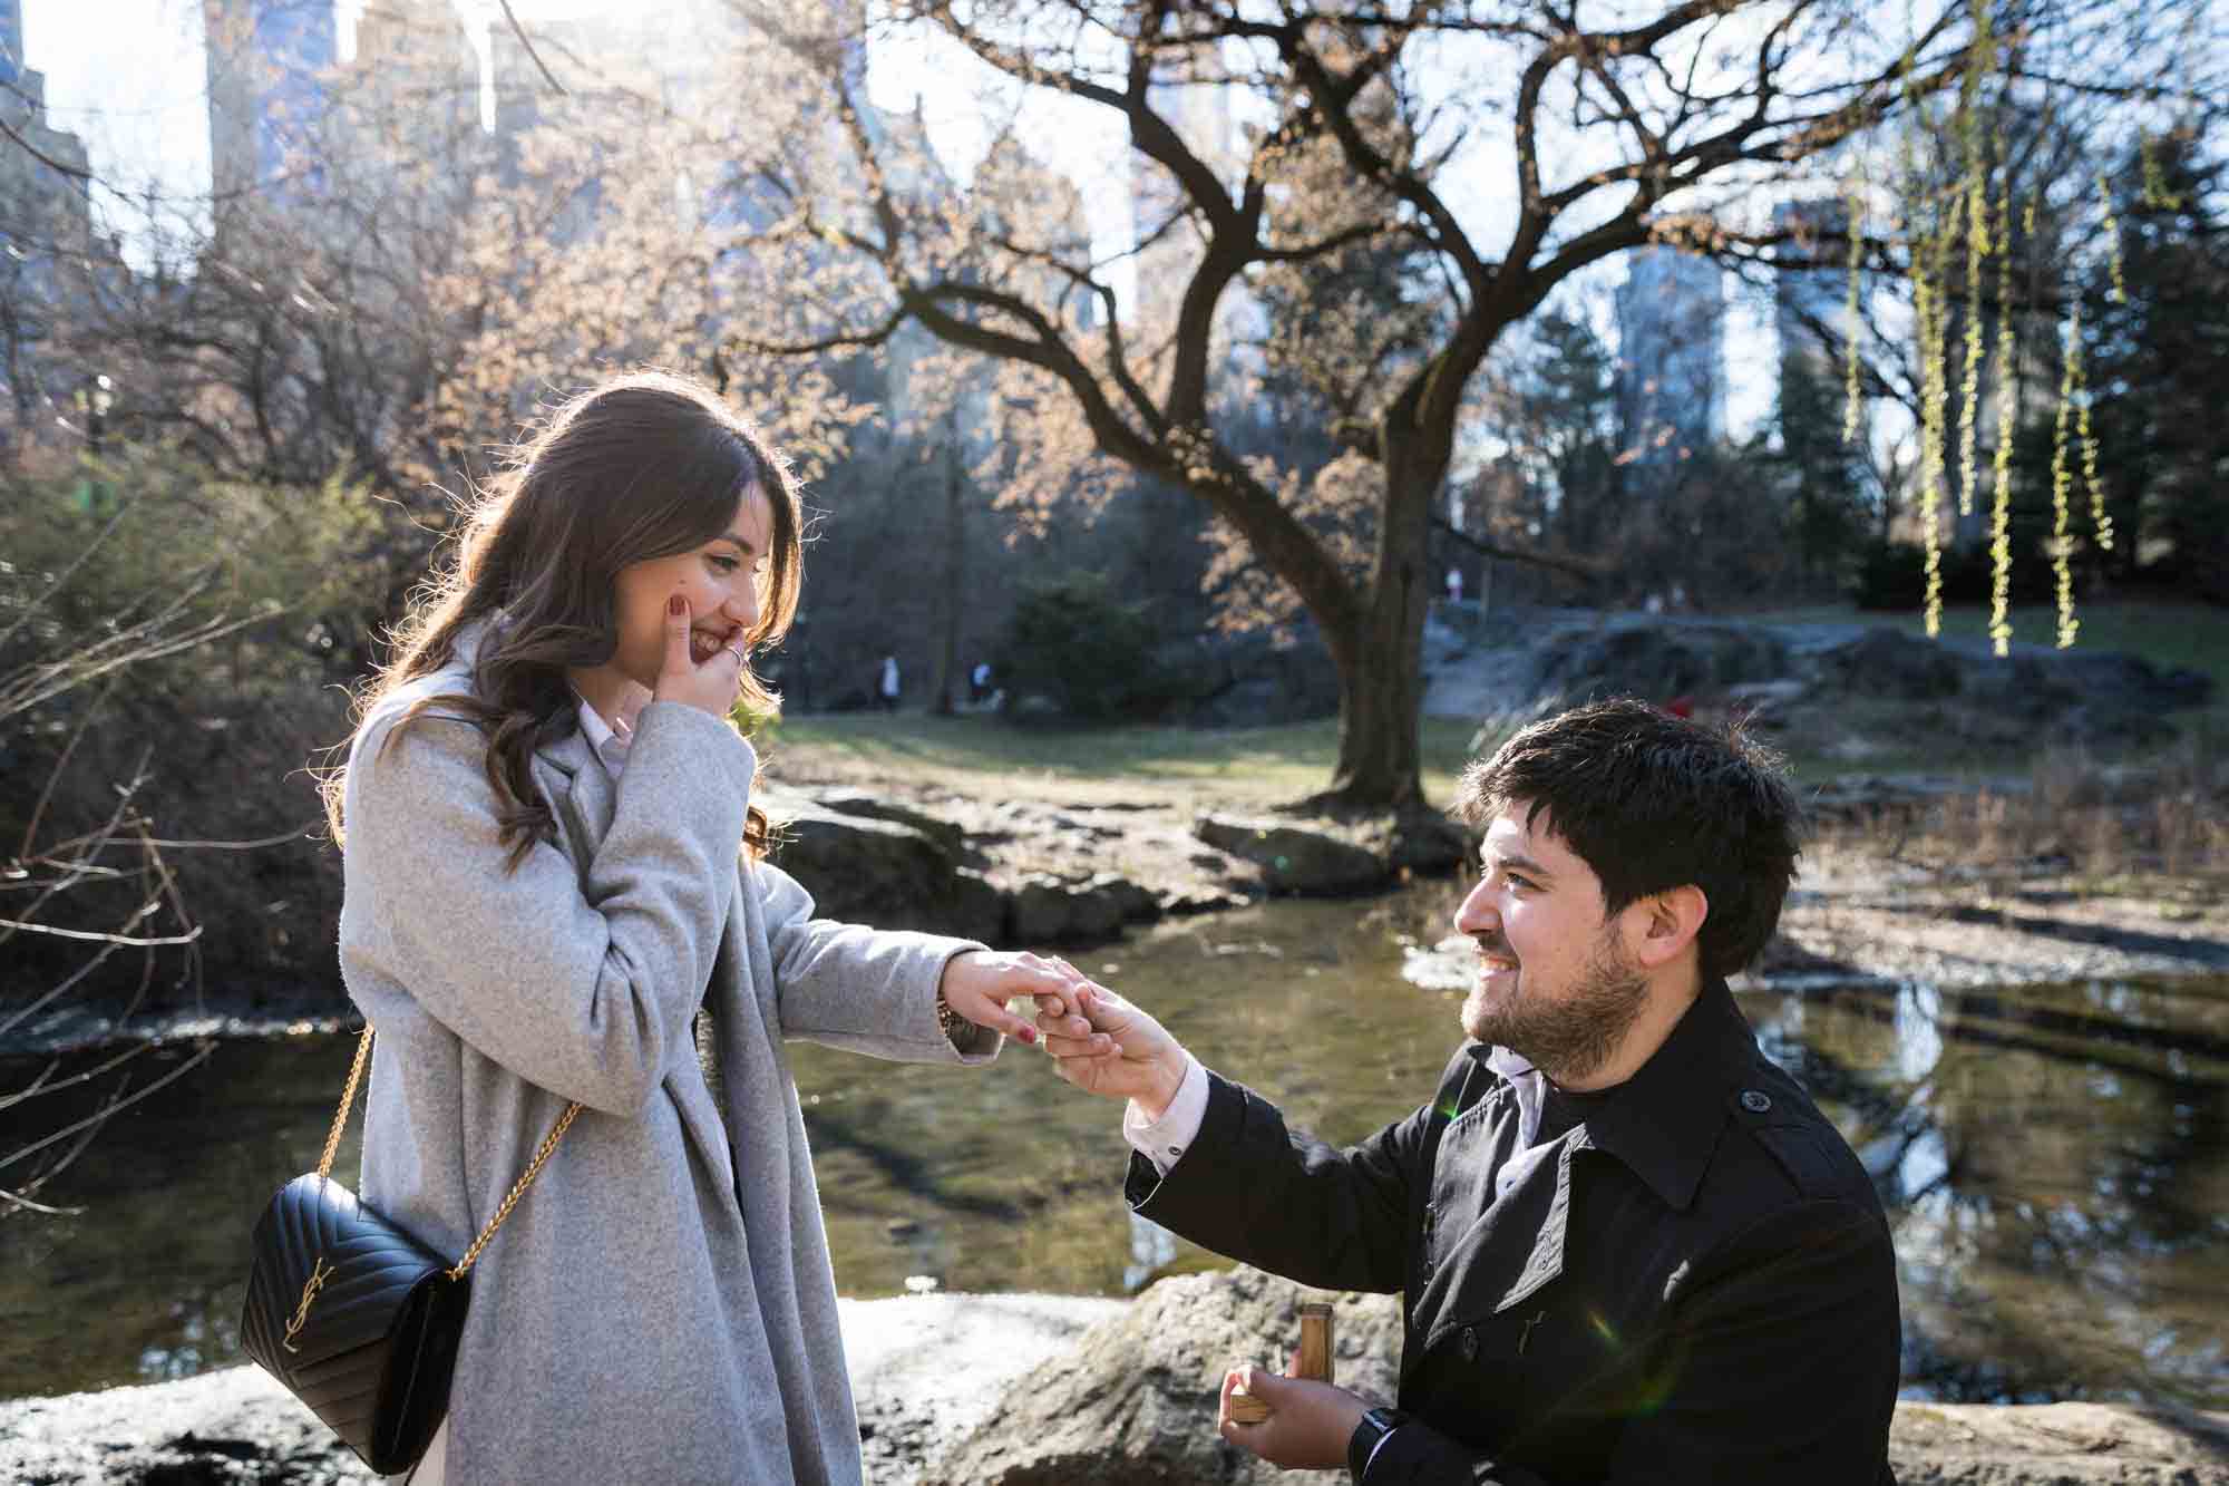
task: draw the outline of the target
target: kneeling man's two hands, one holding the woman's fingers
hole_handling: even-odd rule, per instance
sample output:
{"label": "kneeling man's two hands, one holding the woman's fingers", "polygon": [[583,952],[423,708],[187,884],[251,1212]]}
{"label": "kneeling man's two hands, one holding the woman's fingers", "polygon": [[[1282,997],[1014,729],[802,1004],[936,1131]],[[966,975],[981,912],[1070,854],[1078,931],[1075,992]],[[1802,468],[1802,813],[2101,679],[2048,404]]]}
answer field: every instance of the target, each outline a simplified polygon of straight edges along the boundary
{"label": "kneeling man's two hands, one holding the woman's fingers", "polygon": [[[1052,959],[1070,982],[1036,993],[1036,1029],[1061,1078],[1086,1093],[1137,1100],[1148,1120],[1159,1120],[1190,1064],[1184,1044],[1146,1011],[1132,1006]],[[1273,1410],[1262,1424],[1230,1417],[1230,1392],[1242,1388]],[[1224,1372],[1215,1426],[1224,1439],[1286,1470],[1335,1470],[1346,1464],[1346,1441],[1369,1408],[1360,1395],[1333,1383],[1297,1379],[1253,1363]]]}

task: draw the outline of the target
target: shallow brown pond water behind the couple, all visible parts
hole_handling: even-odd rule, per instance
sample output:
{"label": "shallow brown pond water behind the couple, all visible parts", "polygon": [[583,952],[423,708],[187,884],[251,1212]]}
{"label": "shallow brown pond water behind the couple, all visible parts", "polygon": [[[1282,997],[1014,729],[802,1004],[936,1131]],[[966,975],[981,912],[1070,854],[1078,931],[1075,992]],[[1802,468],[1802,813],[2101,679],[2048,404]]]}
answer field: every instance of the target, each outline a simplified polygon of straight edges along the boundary
{"label": "shallow brown pond water behind the couple, all visible parts", "polygon": [[[1279,901],[1074,959],[1353,1140],[1422,1100],[1460,1035],[1456,997],[1400,975],[1400,930],[1442,899]],[[2229,1408],[2229,982],[1741,1000],[1890,1207],[1908,1395]],[[225,1044],[40,1194],[85,1216],[0,1218],[0,1397],[239,1361],[247,1227],[314,1165],[352,1042]],[[1119,1107],[1039,1053],[965,1071],[798,1046],[794,1067],[845,1294],[1126,1294],[1221,1263],[1128,1214]]]}

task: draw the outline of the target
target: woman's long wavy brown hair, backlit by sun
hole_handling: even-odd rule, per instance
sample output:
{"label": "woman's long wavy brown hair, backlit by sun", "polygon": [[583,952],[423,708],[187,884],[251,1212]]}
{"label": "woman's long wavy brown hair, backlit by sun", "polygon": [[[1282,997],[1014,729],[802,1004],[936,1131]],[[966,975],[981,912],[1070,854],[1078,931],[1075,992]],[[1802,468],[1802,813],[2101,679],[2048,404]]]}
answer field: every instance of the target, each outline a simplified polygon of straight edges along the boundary
{"label": "woman's long wavy brown hair, backlit by sun", "polygon": [[[580,727],[571,667],[617,649],[613,580],[622,567],[702,547],[729,529],[736,506],[760,491],[771,509],[771,551],[758,625],[747,649],[780,640],[802,582],[798,489],[787,462],[747,417],[709,388],[666,373],[629,373],[559,404],[522,440],[495,482],[477,493],[455,560],[437,567],[392,631],[392,658],[357,698],[361,732],[397,687],[448,665],[468,625],[493,620],[473,663],[473,692],[428,696],[388,734],[428,707],[464,716],[488,739],[488,783],[508,868],[557,821],[533,783],[537,747]],[[742,705],[769,714],[780,698],[742,672]],[[343,834],[345,763],[325,774],[325,819]],[[751,805],[744,850],[769,846],[767,814]]]}

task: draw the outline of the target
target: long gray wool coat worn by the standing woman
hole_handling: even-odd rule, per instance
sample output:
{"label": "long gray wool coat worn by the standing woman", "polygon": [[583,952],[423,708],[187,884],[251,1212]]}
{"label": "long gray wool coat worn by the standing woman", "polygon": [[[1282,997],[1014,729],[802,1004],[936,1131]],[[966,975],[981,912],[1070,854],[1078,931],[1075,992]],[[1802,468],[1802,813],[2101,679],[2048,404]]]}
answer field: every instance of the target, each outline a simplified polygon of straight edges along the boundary
{"label": "long gray wool coat worn by the standing woman", "polygon": [[[461,647],[470,654],[470,647]],[[805,1038],[987,1062],[936,1026],[965,939],[814,917],[740,859],[756,756],[682,703],[626,770],[542,750],[557,841],[504,870],[481,734],[388,698],[348,761],[341,973],[377,1029],[368,1203],[446,1254],[586,1104],[473,1270],[448,1482],[858,1482],[858,1421],[798,1093]],[[693,1020],[709,1015],[707,1080]],[[716,1093],[718,1089],[718,1093]]]}

